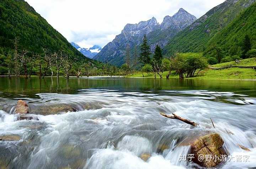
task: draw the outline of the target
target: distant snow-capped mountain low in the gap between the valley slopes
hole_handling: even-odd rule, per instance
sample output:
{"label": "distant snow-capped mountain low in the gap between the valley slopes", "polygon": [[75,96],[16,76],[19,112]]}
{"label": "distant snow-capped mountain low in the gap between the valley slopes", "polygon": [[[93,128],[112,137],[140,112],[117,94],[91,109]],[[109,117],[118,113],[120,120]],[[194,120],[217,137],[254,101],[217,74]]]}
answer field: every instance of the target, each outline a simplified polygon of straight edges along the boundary
{"label": "distant snow-capped mountain low in the gap between the valley slopes", "polygon": [[82,48],[78,44],[75,44],[74,42],[71,42],[71,45],[75,47],[79,52],[81,52],[84,56],[88,58],[93,58],[98,54],[98,52],[101,51],[101,47],[98,45],[94,45],[90,47],[90,49]]}

